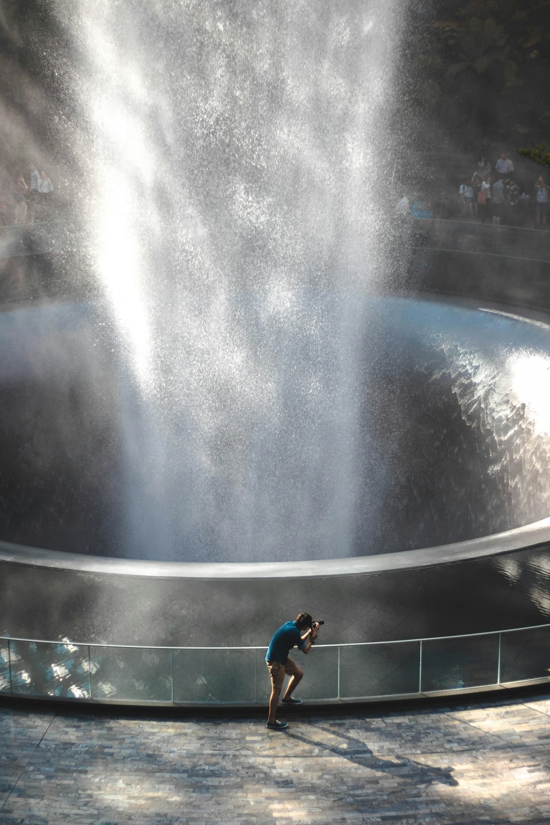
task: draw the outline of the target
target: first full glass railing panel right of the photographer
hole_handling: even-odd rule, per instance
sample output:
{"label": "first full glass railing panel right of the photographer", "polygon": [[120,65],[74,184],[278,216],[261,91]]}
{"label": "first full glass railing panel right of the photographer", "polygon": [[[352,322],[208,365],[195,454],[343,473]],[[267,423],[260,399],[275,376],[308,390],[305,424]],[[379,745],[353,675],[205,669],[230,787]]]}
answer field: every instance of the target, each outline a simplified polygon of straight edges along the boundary
{"label": "first full glass railing panel right of the photographer", "polygon": [[420,642],[341,647],[341,698],[418,693],[420,647]]}

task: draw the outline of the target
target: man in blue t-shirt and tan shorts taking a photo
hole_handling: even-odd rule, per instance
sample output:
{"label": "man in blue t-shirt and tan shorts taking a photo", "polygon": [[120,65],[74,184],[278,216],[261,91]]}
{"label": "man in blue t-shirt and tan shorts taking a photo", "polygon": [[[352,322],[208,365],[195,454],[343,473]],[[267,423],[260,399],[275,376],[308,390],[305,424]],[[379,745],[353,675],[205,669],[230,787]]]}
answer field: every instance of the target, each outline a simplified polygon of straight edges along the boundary
{"label": "man in blue t-shirt and tan shorts taking a photo", "polygon": [[[308,613],[299,613],[294,621],[287,621],[278,630],[275,630],[270,646],[267,648],[266,664],[271,676],[270,714],[266,727],[272,730],[286,728],[286,722],[275,719],[280,691],[286,673],[290,681],[284,691],[281,703],[283,705],[300,705],[301,699],[294,699],[292,691],[303,676],[303,670],[289,657],[289,650],[297,645],[302,653],[308,653],[317,638],[319,623],[314,622]],[[305,633],[303,632],[305,630]]]}

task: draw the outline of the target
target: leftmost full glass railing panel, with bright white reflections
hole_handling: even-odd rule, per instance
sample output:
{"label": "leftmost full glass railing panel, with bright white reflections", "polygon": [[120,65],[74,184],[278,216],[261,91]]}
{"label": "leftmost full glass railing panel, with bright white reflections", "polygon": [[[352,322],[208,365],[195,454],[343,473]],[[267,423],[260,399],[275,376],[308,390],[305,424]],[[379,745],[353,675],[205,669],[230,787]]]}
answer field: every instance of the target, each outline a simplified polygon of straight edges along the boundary
{"label": "leftmost full glass railing panel, with bright white reflections", "polygon": [[90,698],[86,646],[11,641],[10,662],[13,693]]}

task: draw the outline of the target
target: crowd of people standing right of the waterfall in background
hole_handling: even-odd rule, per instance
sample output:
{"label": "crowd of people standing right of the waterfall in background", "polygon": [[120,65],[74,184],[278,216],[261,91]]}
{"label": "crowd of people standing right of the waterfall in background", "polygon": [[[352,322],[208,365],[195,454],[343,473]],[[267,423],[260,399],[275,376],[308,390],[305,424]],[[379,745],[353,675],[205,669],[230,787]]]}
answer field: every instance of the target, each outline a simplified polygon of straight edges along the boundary
{"label": "crowd of people standing right of the waterfall in background", "polygon": [[398,202],[396,211],[402,218],[462,218],[496,226],[527,226],[536,222],[542,228],[547,224],[548,180],[550,172],[547,177],[539,175],[534,187],[525,186],[508,153],[501,152],[494,168],[482,155],[473,172],[462,178],[458,191],[444,191],[435,199],[434,206],[421,200],[411,203],[405,196]]}

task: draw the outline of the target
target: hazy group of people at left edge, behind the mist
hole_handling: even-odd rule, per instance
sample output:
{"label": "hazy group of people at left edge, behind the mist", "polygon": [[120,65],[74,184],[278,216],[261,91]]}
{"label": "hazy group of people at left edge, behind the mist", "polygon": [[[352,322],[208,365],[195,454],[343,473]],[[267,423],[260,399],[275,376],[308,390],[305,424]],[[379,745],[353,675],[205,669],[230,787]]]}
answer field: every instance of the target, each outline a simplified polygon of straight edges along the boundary
{"label": "hazy group of people at left edge, behind the mist", "polygon": [[0,204],[0,225],[34,224],[47,221],[51,216],[54,185],[48,172],[39,171],[35,163],[30,164],[26,178],[21,174],[12,183],[11,197]]}

